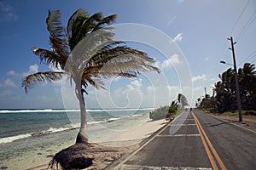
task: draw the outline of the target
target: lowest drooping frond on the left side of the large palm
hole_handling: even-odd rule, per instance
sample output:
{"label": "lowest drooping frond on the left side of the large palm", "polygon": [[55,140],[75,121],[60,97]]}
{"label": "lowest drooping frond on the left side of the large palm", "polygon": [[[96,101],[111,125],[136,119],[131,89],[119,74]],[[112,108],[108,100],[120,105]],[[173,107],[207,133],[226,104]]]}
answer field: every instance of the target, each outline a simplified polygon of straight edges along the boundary
{"label": "lowest drooping frond on the left side of the large palm", "polygon": [[35,74],[29,75],[22,79],[21,87],[25,88],[25,92],[27,94],[28,88],[33,88],[36,84],[42,82],[53,82],[57,80],[61,80],[64,72],[57,71],[45,71],[45,72],[37,72]]}

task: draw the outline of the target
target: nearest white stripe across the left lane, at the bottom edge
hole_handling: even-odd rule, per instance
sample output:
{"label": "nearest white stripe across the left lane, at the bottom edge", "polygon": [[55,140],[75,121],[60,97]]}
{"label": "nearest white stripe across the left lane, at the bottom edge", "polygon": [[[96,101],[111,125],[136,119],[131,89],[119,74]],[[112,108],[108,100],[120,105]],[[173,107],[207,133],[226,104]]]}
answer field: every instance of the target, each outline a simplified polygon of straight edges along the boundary
{"label": "nearest white stripe across the left lane, at the bottom edge", "polygon": [[154,167],[154,166],[141,166],[141,165],[122,165],[120,170],[127,169],[127,170],[212,170],[211,167]]}

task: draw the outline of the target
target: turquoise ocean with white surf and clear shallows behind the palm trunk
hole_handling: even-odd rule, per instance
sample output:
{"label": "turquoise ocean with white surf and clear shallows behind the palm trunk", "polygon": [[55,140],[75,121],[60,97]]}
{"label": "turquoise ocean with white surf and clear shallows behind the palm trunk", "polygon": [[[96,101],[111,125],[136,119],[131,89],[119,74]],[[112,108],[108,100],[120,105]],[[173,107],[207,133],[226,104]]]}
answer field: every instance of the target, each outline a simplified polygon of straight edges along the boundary
{"label": "turquoise ocean with white surf and clear shallows behind the palm trunk", "polygon": [[[87,110],[89,141],[114,136],[149,120],[154,108]],[[49,162],[75,143],[79,110],[0,110],[0,169],[27,169]]]}

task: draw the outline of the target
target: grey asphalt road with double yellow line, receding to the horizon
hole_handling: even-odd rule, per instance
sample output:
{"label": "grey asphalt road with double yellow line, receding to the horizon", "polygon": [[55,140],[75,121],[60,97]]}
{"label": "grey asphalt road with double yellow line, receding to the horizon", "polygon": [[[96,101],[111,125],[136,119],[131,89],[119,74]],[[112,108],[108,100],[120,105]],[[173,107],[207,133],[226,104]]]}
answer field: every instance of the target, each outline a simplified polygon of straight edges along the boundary
{"label": "grey asphalt road with double yellow line, receding to the horizon", "polygon": [[185,111],[115,169],[256,169],[256,133]]}

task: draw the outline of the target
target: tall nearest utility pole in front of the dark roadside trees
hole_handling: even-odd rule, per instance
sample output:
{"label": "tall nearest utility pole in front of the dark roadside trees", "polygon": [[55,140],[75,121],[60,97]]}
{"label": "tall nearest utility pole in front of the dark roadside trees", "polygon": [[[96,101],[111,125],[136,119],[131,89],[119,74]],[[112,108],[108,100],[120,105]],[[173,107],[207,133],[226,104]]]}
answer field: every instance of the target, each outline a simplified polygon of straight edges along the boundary
{"label": "tall nearest utility pole in front of the dark roadside trees", "polygon": [[231,49],[233,54],[233,61],[234,61],[234,70],[235,70],[235,80],[236,80],[236,100],[237,100],[237,107],[238,107],[238,115],[239,115],[239,122],[242,122],[241,116],[241,99],[240,99],[240,92],[239,92],[239,82],[237,77],[237,70],[236,70],[236,57],[235,57],[235,48],[234,45],[236,42],[233,42],[233,37],[228,38],[231,42]]}

